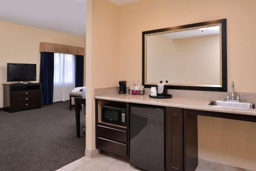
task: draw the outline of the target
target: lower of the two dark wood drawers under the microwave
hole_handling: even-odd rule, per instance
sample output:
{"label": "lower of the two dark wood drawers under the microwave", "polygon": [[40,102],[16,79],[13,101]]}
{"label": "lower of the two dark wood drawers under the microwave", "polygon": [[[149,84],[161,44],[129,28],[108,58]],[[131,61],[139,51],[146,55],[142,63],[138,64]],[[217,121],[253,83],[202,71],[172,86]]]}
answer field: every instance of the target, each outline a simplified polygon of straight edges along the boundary
{"label": "lower of the two dark wood drawers under the microwave", "polygon": [[127,156],[127,145],[112,141],[109,139],[97,137],[96,138],[96,148],[102,149],[106,152],[115,153],[121,156]]}

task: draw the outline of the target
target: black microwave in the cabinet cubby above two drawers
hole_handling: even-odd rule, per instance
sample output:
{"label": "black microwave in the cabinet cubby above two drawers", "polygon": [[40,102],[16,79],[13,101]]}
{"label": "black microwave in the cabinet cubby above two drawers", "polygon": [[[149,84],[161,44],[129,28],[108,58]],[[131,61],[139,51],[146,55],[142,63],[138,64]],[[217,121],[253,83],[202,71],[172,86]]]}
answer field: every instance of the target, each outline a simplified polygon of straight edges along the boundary
{"label": "black microwave in the cabinet cubby above two drawers", "polygon": [[101,106],[101,121],[106,123],[125,126],[126,109],[123,106],[103,105]]}

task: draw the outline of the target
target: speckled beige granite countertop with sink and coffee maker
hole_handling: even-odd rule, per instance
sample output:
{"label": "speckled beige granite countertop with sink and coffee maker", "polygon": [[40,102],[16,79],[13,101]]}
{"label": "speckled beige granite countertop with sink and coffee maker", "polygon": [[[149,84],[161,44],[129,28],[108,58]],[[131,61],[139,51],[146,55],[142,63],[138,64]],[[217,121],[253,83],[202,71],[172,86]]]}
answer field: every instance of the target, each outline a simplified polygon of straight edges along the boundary
{"label": "speckled beige granite countertop with sink and coffee maker", "polygon": [[97,95],[95,96],[95,99],[256,116],[256,109],[224,108],[219,106],[207,105],[208,102],[212,100],[218,100],[218,99],[191,98],[191,97],[186,98],[186,97],[175,97],[175,96],[170,99],[153,99],[153,98],[150,98],[148,95],[131,95],[131,94],[116,94],[116,93],[106,94],[106,95]]}

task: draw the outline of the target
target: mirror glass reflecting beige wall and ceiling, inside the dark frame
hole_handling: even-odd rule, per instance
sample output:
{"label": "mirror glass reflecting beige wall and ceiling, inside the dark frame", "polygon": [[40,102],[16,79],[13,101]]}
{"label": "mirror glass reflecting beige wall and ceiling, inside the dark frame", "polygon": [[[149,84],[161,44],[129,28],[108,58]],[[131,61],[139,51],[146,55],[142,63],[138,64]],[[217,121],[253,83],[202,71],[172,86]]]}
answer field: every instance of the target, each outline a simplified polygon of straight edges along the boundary
{"label": "mirror glass reflecting beige wall and ceiling, inside the dark frame", "polygon": [[221,26],[210,25],[145,37],[145,84],[221,87]]}

